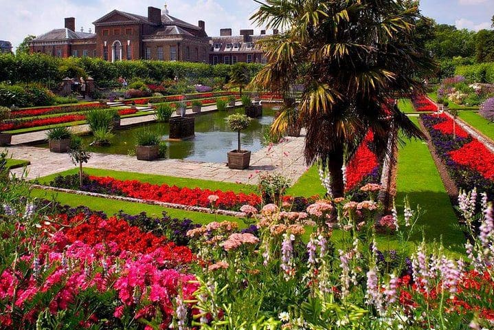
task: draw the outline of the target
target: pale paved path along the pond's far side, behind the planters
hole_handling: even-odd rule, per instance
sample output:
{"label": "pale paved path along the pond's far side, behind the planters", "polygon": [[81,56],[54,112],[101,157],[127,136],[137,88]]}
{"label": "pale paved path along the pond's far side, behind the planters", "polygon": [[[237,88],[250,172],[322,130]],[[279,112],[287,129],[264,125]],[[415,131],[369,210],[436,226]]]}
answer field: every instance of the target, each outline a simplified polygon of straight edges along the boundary
{"label": "pale paved path along the pond's far side, behind the planters", "polygon": [[[236,102],[236,107],[238,107],[241,102]],[[216,109],[216,104],[213,105],[208,105],[207,107],[202,107],[201,112],[202,113],[207,113],[207,112],[213,112],[213,111],[218,111]],[[187,109],[186,115],[200,115],[199,113],[193,113],[192,109]],[[175,111],[172,114],[173,117],[179,117]],[[140,124],[140,123],[146,123],[146,122],[153,122],[155,120],[155,115],[154,112],[150,112],[149,115],[142,115],[139,117],[130,117],[130,118],[122,118],[120,124],[121,126],[132,126],[135,124]],[[69,129],[71,129],[72,132],[74,133],[87,133],[89,132],[89,126],[87,124],[83,125],[77,125],[77,126],[70,126]],[[12,145],[16,144],[27,144],[27,143],[32,143],[32,142],[41,142],[43,140],[46,140],[46,134],[48,130],[45,131],[37,131],[37,132],[31,132],[31,133],[23,133],[23,134],[17,134],[17,135],[12,135]]]}

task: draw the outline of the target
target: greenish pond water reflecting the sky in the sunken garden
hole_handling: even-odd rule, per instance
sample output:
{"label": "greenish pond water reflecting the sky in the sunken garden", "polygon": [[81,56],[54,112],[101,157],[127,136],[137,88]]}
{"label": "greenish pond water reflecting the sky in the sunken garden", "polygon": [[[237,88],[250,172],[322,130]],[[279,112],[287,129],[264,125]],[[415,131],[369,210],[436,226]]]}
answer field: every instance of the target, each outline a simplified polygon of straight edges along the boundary
{"label": "greenish pond water reflecting the sky in the sunken garden", "polygon": [[[169,124],[155,122],[116,130],[110,146],[90,146],[89,150],[95,153],[127,155],[135,150],[135,131],[142,126],[149,126],[150,129],[162,134],[161,139],[166,141],[168,146],[166,150],[168,159],[227,162],[227,152],[237,147],[237,133],[230,131],[226,122],[227,116],[234,112],[243,113],[244,109],[216,111],[195,116],[195,137],[191,140],[167,141]],[[262,131],[273,122],[273,115],[274,110],[265,107],[262,109],[262,117],[251,121],[249,128],[240,134],[243,150],[254,153],[262,148]],[[82,136],[82,140],[89,145],[93,142],[93,137],[92,135]]]}

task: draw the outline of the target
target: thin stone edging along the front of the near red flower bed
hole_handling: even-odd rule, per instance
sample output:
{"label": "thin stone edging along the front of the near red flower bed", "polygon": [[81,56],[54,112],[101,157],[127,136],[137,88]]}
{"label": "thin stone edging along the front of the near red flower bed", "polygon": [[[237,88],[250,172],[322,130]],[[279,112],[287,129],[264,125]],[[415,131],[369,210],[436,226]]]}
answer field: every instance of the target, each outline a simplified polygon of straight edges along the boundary
{"label": "thin stone edging along the front of the near red flower bed", "polygon": [[247,215],[243,212],[236,212],[236,211],[229,211],[229,210],[212,210],[211,208],[203,208],[201,206],[188,206],[188,205],[176,204],[176,203],[166,203],[164,201],[150,201],[150,200],[146,200],[146,199],[138,199],[138,198],[133,198],[133,197],[105,195],[105,194],[99,194],[97,192],[87,192],[87,191],[72,190],[72,189],[65,189],[65,188],[56,188],[56,187],[50,187],[50,186],[43,186],[40,184],[32,184],[31,187],[36,188],[36,189],[41,189],[41,190],[67,192],[69,194],[74,194],[74,195],[83,195],[83,196],[89,196],[89,197],[101,197],[101,198],[105,198],[105,199],[113,199],[115,201],[129,201],[132,203],[156,205],[156,206],[162,206],[164,208],[175,208],[177,210],[186,210],[186,211],[202,212],[202,213],[209,213],[209,214],[227,215],[229,217],[237,217],[237,218],[247,217]]}

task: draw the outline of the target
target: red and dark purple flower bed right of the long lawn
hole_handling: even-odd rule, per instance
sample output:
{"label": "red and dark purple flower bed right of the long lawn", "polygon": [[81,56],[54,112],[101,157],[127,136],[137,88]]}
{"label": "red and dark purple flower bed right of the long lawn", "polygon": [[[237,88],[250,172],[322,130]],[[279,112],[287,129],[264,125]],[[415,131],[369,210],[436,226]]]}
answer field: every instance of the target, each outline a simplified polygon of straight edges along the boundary
{"label": "red and dark purple flower bed right of the long lawn", "polygon": [[477,187],[493,196],[494,154],[458,125],[453,139],[453,120],[446,114],[421,118],[456,186],[469,190]]}

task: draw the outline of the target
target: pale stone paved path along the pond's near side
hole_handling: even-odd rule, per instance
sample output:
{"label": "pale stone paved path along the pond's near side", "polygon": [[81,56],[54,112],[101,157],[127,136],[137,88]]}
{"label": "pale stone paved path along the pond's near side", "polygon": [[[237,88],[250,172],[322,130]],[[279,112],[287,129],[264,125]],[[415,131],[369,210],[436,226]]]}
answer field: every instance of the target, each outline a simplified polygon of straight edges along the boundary
{"label": "pale stone paved path along the pond's near side", "polygon": [[[127,155],[102,153],[93,153],[86,166],[244,184],[256,184],[258,174],[267,170],[282,173],[296,181],[306,170],[303,157],[304,140],[304,136],[288,137],[287,142],[262,148],[251,155],[251,166],[247,170],[231,170],[224,163],[191,162],[181,159],[145,162]],[[8,152],[14,159],[27,159],[31,162],[28,166],[28,179],[74,168],[67,153],[50,153],[48,148],[17,145],[8,147]],[[22,168],[12,172],[19,175],[22,173]]]}

